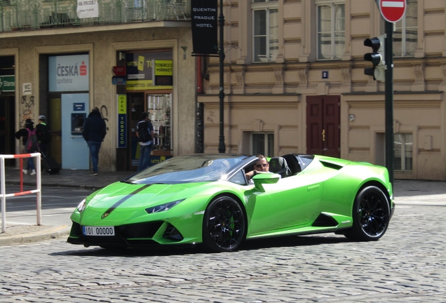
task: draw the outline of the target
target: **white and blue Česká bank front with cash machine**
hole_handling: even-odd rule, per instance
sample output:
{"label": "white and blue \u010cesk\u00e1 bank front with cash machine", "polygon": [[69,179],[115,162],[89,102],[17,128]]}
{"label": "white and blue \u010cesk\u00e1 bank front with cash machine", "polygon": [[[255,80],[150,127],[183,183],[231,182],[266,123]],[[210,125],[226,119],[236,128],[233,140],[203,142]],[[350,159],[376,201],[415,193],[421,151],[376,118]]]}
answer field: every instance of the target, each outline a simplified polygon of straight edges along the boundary
{"label": "white and blue \u010cesk\u00e1 bank front with cash machine", "polygon": [[41,55],[41,63],[48,68],[48,86],[41,90],[47,103],[41,105],[39,114],[46,116],[52,131],[50,156],[63,169],[90,169],[88,146],[82,136],[90,112],[89,59],[86,53]]}

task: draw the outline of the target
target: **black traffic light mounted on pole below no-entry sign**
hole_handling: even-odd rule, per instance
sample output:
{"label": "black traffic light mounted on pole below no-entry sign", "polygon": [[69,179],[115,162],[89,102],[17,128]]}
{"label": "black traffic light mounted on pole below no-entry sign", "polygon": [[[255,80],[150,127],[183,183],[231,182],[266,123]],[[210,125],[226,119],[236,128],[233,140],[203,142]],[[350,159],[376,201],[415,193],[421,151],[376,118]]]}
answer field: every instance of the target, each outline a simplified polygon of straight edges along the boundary
{"label": "black traffic light mounted on pole below no-entry sign", "polygon": [[372,48],[373,53],[366,53],[364,60],[370,61],[373,67],[366,67],[364,74],[373,76],[373,80],[386,81],[386,61],[384,60],[384,36],[367,38],[364,45]]}

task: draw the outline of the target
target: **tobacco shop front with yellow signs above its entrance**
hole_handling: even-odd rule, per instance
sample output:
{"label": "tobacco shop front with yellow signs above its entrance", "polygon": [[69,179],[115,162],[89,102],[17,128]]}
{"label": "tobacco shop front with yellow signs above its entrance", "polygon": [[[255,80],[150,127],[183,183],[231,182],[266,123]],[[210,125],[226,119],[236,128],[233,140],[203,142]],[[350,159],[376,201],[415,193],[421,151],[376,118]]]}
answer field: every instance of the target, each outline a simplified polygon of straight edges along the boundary
{"label": "tobacco shop front with yellow signs above its entrance", "polygon": [[149,112],[154,126],[151,165],[173,156],[173,60],[168,49],[125,53],[124,65],[117,62],[125,67],[126,80],[119,84],[125,93],[118,94],[116,164],[118,170],[136,170],[140,159],[136,126],[143,112]]}

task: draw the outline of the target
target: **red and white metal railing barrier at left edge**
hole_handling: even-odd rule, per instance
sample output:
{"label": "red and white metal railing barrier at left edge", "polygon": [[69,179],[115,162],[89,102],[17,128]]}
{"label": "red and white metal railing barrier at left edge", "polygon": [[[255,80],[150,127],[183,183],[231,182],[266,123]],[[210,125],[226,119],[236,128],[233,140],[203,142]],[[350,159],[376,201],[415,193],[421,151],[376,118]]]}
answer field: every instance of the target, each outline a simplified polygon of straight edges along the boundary
{"label": "red and white metal railing barrier at left edge", "polygon": [[[29,191],[23,191],[23,175],[22,175],[22,159],[33,157],[36,159],[36,189]],[[20,159],[20,191],[14,194],[6,194],[6,180],[5,180],[5,159]],[[0,154],[0,188],[1,188],[1,232],[6,231],[6,198],[11,196],[23,196],[26,194],[36,194],[36,208],[37,208],[37,225],[41,225],[41,208],[42,208],[42,195],[41,195],[41,154],[14,154],[14,155],[1,155]]]}

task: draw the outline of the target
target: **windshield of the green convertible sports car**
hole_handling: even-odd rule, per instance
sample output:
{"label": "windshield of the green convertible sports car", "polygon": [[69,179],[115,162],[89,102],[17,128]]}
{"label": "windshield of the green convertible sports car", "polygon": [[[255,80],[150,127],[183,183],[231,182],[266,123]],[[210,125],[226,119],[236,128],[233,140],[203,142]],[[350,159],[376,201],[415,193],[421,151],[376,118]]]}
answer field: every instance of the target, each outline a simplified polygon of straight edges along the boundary
{"label": "windshield of the green convertible sports car", "polygon": [[248,159],[244,155],[193,154],[176,156],[126,179],[135,184],[210,182],[226,177],[231,168]]}

